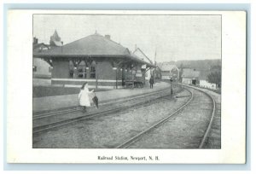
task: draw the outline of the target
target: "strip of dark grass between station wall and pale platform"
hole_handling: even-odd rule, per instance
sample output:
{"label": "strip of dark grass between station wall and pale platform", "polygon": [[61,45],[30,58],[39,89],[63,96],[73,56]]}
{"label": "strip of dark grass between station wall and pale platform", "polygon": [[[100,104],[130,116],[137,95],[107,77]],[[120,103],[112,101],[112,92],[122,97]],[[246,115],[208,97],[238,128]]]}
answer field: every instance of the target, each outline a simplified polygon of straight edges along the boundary
{"label": "strip of dark grass between station wall and pale platform", "polygon": [[[91,90],[91,89],[90,89]],[[94,91],[105,91],[108,89],[94,89]],[[79,88],[55,87],[55,86],[33,86],[33,97],[62,96],[79,94]]]}

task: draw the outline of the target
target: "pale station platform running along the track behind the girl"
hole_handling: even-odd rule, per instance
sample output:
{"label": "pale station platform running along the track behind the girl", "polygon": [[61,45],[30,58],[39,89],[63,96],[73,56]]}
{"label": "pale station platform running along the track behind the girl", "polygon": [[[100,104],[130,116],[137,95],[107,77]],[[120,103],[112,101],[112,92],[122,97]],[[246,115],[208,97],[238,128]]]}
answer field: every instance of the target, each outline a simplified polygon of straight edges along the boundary
{"label": "pale station platform running along the track behind the girl", "polygon": [[[170,84],[166,82],[157,82],[154,84],[154,88],[150,89],[149,85],[145,85],[144,88],[135,89],[116,89],[96,92],[96,96],[99,99],[99,104],[112,102],[121,98],[143,95],[149,92],[163,90],[170,88]],[[33,98],[33,113],[56,110],[67,107],[79,107],[79,94],[65,95],[65,96],[44,96]]]}

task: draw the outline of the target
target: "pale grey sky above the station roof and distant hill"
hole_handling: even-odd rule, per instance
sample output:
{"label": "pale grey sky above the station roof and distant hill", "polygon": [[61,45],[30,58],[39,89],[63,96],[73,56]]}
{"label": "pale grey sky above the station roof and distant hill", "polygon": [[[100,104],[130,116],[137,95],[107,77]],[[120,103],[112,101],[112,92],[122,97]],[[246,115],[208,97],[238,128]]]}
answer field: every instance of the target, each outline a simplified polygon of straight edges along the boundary
{"label": "pale grey sky above the station roof and distant hill", "polygon": [[108,34],[131,52],[142,49],[151,61],[221,59],[220,15],[33,15],[39,43],[49,44],[55,30],[64,44]]}

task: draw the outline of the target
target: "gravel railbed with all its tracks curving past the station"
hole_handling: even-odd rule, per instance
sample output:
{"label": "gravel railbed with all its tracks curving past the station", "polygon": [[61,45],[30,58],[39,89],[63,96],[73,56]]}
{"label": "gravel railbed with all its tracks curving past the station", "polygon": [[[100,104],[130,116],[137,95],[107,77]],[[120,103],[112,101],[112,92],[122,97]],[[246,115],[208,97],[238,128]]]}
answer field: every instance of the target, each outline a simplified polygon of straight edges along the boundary
{"label": "gravel railbed with all its tracks curving past the station", "polygon": [[220,120],[217,96],[193,86],[175,90],[179,93],[172,98],[168,89],[106,105],[98,113],[35,126],[33,148],[219,148],[212,141],[220,142],[220,136],[211,138],[220,131],[215,124]]}

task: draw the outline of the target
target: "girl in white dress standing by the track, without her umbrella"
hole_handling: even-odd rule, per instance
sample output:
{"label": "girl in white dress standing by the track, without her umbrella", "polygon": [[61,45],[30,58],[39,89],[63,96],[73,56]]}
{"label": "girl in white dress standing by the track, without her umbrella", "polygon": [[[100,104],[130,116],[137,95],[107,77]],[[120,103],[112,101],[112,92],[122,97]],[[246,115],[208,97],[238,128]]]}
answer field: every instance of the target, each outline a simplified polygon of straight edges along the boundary
{"label": "girl in white dress standing by the track, without her umbrella", "polygon": [[88,89],[88,84],[84,83],[81,87],[80,93],[79,93],[79,103],[80,106],[83,107],[84,112],[86,111],[86,107],[90,107],[90,97],[89,94],[92,93],[94,90]]}

